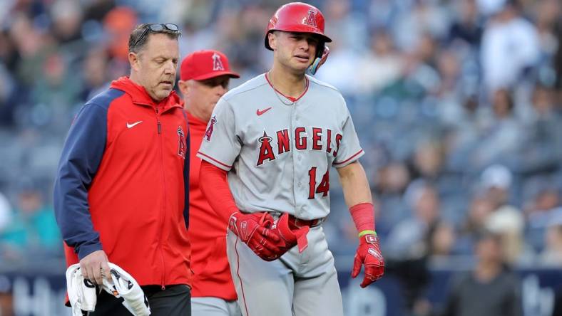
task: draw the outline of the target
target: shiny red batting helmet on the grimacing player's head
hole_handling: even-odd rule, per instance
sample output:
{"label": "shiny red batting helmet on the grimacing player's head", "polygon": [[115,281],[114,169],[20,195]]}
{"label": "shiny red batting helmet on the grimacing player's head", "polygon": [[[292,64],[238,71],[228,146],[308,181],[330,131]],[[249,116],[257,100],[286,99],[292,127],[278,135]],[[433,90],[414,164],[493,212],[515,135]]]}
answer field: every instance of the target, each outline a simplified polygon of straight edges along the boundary
{"label": "shiny red batting helmet on the grimacing player's head", "polygon": [[287,31],[300,33],[314,33],[320,38],[320,45],[317,54],[322,56],[324,43],[331,42],[328,36],[324,35],[324,16],[315,6],[302,2],[291,2],[281,6],[267,24],[265,33],[265,48],[272,51],[267,34],[272,31]]}

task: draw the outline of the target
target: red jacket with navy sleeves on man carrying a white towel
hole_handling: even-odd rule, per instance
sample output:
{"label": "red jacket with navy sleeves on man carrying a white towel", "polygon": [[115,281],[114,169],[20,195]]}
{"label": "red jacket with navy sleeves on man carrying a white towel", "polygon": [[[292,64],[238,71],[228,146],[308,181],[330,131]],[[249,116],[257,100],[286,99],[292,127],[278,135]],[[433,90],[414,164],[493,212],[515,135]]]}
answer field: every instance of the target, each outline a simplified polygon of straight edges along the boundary
{"label": "red jacket with navy sleeves on man carrying a white towel", "polygon": [[67,264],[103,249],[139,285],[190,285],[188,149],[175,93],[156,104],[122,77],[86,102],[54,188]]}

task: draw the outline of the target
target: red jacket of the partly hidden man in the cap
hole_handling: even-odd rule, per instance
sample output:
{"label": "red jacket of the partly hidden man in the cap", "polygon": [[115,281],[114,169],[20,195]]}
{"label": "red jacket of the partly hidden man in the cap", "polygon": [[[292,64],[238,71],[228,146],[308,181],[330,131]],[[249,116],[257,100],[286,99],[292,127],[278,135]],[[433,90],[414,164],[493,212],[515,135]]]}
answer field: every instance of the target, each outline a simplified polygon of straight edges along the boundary
{"label": "red jacket of the partly hidden man in the cap", "polygon": [[226,257],[227,224],[220,218],[200,189],[199,178],[201,159],[195,157],[207,123],[187,112],[190,135],[190,174],[189,204],[190,228],[192,241],[191,269],[193,270],[192,297],[220,297],[224,300],[236,300],[236,291],[228,258]]}

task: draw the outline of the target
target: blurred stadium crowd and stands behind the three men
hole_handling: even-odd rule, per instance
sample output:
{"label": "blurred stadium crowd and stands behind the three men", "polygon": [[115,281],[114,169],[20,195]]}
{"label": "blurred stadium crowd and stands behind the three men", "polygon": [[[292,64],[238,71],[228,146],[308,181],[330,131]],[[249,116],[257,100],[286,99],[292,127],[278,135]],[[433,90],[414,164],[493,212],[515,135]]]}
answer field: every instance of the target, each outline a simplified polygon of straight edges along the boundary
{"label": "blurred stadium crowd and stands behind the three men", "polygon": [[[286,2],[0,1],[0,315],[70,312],[53,177],[78,109],[128,75],[133,27],[177,23],[181,56],[225,52],[233,88],[269,69],[265,27]],[[460,315],[445,314],[455,280],[494,260],[523,315],[562,315],[561,1],[309,3],[334,40],[316,76],[347,100],[387,259],[373,287],[350,280],[357,235],[334,177],[346,315]]]}

